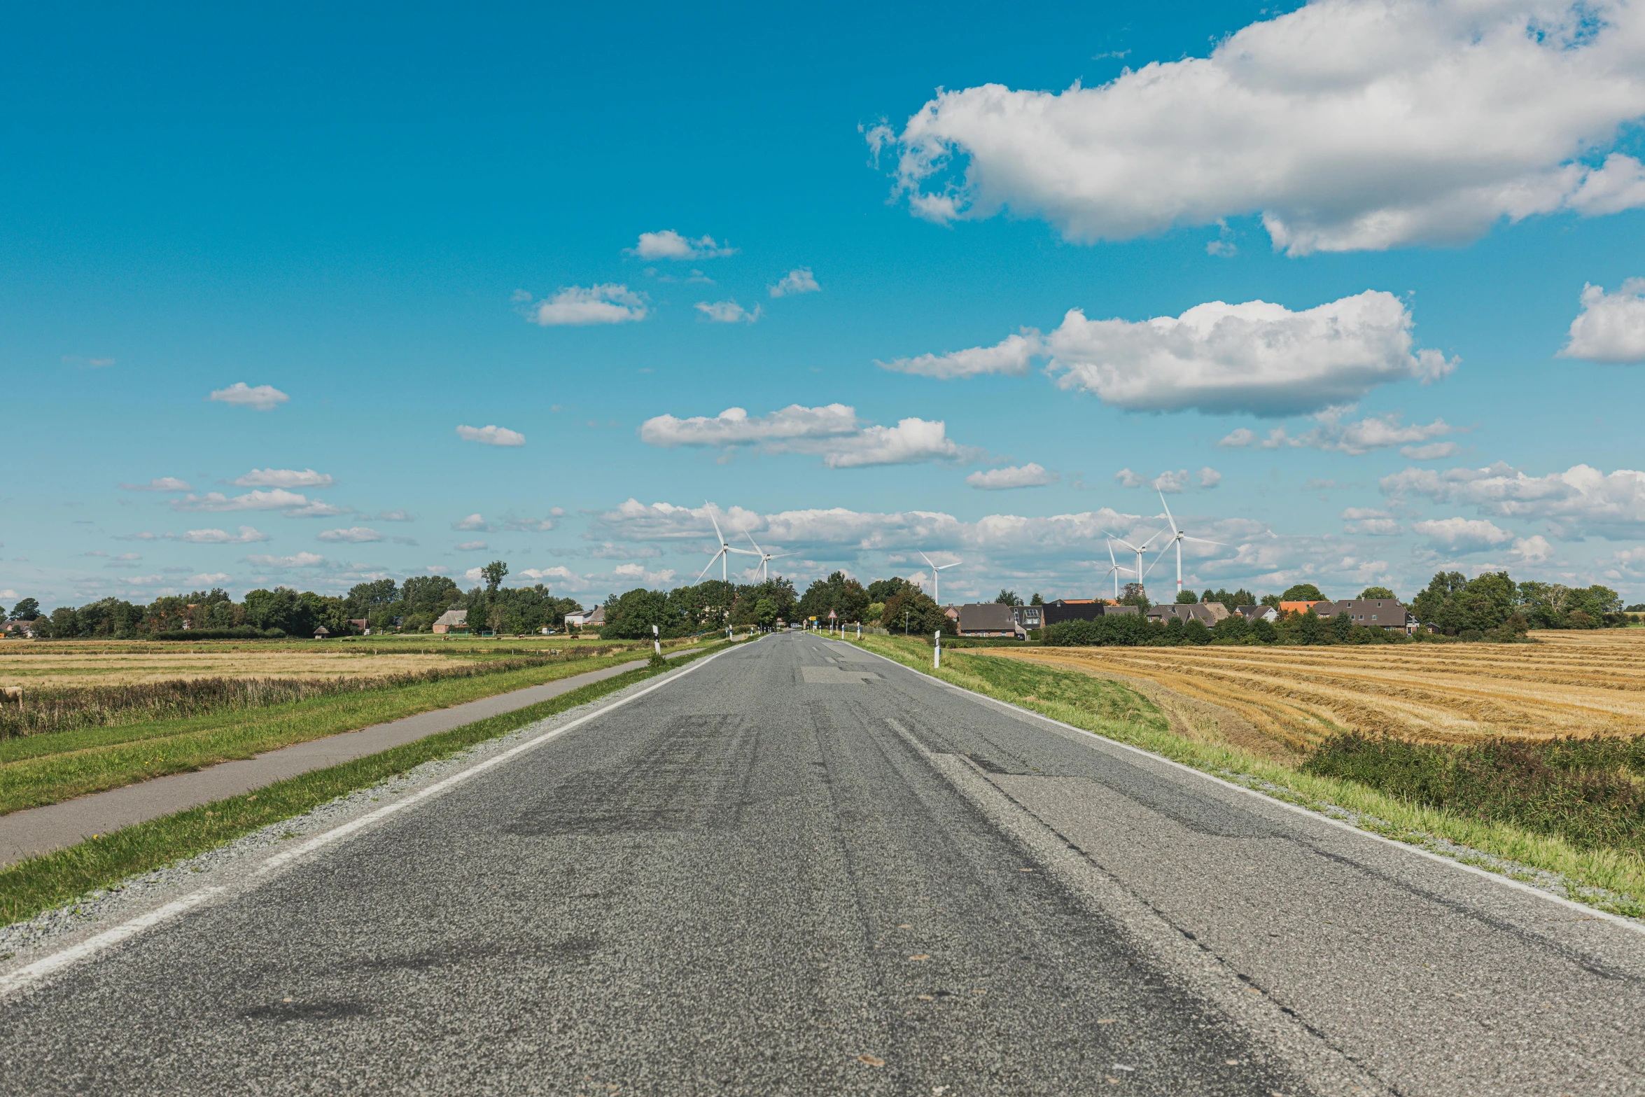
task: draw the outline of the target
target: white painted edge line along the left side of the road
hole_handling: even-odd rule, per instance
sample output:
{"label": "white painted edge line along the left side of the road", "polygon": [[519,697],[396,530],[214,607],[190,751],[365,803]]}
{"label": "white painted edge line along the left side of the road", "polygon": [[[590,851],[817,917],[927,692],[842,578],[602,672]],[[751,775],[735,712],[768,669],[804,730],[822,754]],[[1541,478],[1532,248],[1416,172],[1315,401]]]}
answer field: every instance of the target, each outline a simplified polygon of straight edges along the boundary
{"label": "white painted edge line along the left side of the road", "polygon": [[[258,870],[257,870],[255,875],[262,877],[263,873],[266,873],[271,868],[278,868],[281,865],[290,865],[294,860],[308,857],[309,854],[314,854],[316,850],[321,850],[326,845],[331,845],[332,842],[336,842],[339,839],[349,837],[350,834],[359,834],[365,826],[368,826],[372,822],[377,822],[378,819],[385,819],[387,816],[392,816],[396,811],[405,811],[411,804],[419,804],[419,803],[423,803],[424,799],[428,799],[429,796],[433,796],[433,794],[436,794],[439,791],[449,789],[449,788],[452,788],[456,785],[461,785],[462,781],[467,781],[472,776],[485,773],[492,766],[502,765],[508,758],[518,757],[520,753],[523,753],[526,750],[531,750],[533,747],[541,747],[543,743],[546,743],[549,740],[559,738],[566,732],[569,732],[569,730],[572,730],[576,727],[581,727],[581,725],[587,724],[589,720],[592,720],[595,717],[605,715],[607,712],[614,712],[615,709],[620,709],[625,704],[638,701],[640,697],[643,697],[643,696],[646,696],[650,692],[655,692],[655,691],[661,689],[663,686],[668,686],[670,683],[679,681],[681,678],[684,678],[686,674],[691,674],[697,668],[707,666],[709,663],[712,663],[719,656],[730,655],[732,651],[739,651],[739,650],[740,648],[727,648],[725,651],[716,651],[714,655],[707,656],[706,660],[697,660],[696,663],[688,664],[679,673],[668,674],[666,678],[663,678],[663,681],[656,683],[655,686],[646,686],[645,689],[642,689],[638,692],[633,692],[633,694],[628,694],[627,697],[622,697],[619,701],[614,701],[612,704],[609,704],[609,706],[605,706],[605,707],[602,707],[602,709],[599,709],[595,712],[589,712],[587,715],[579,715],[576,720],[572,720],[569,724],[556,727],[556,729],[553,729],[549,732],[543,732],[541,735],[538,735],[535,738],[528,738],[526,742],[520,743],[518,747],[510,747],[508,750],[505,750],[500,755],[494,755],[490,758],[477,761],[472,766],[469,766],[467,770],[459,770],[457,773],[444,778],[443,781],[436,781],[434,785],[429,785],[428,788],[418,791],[418,793],[413,793],[411,796],[405,798],[403,801],[398,801],[398,803],[393,803],[393,804],[383,804],[382,808],[378,808],[377,811],[372,811],[370,814],[365,814],[365,816],[360,816],[359,819],[352,819],[349,822],[344,822],[342,826],[334,827],[331,831],[326,831],[324,834],[319,834],[319,835],[309,839],[308,842],[303,842],[301,845],[288,849],[288,850],[285,850],[281,854],[275,854],[273,857],[270,857],[268,860],[265,860],[258,867]],[[255,877],[253,877],[253,880],[255,880]],[[145,929],[151,929],[153,926],[158,926],[163,921],[176,918],[178,914],[183,914],[184,911],[188,911],[188,910],[191,910],[194,906],[199,906],[201,903],[204,903],[206,900],[212,898],[214,895],[217,895],[220,891],[224,891],[224,888],[217,888],[217,886],[214,886],[214,888],[201,888],[199,891],[191,891],[189,895],[184,895],[179,900],[173,900],[171,903],[166,903],[164,906],[151,910],[146,914],[138,914],[137,918],[133,918],[130,921],[125,921],[125,923],[115,926],[114,929],[105,929],[104,933],[100,933],[100,934],[97,934],[94,937],[87,937],[86,941],[81,941],[79,944],[72,944],[72,946],[63,949],[61,952],[53,952],[51,956],[41,957],[41,959],[35,960],[33,964],[28,964],[25,967],[16,969],[15,972],[10,972],[7,975],[0,975],[0,1000],[10,997],[16,990],[23,990],[25,987],[31,987],[33,984],[38,984],[39,980],[43,980],[48,975],[53,975],[53,974],[63,970],[64,967],[69,967],[71,964],[77,964],[79,960],[84,960],[84,959],[92,957],[92,956],[95,956],[99,952],[104,952],[105,949],[110,949],[110,947],[120,944],[122,941],[135,937],[137,934],[143,933]]]}

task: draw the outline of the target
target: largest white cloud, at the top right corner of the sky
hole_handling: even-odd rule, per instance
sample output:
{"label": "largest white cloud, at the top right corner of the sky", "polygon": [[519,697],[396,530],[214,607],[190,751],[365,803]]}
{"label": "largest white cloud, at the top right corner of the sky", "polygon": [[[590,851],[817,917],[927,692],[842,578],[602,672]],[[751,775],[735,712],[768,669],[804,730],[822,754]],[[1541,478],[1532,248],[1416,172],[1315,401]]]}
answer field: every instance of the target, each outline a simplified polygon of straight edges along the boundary
{"label": "largest white cloud, at the top right corner of the sky", "polygon": [[1642,21],[1622,0],[1323,0],[1207,58],[1061,94],[939,92],[867,137],[938,222],[1010,207],[1125,240],[1260,212],[1291,255],[1459,242],[1645,204],[1635,160],[1582,160],[1645,113]]}

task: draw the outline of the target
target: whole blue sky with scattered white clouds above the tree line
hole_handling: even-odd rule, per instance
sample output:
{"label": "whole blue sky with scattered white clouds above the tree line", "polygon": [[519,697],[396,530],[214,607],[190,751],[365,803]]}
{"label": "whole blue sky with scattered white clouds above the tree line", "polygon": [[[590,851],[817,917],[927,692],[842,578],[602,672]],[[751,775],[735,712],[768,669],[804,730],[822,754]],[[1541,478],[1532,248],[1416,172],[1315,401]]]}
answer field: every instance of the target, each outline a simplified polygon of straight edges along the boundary
{"label": "whole blue sky with scattered white clouds above the tree line", "polygon": [[1604,3],[31,8],[0,604],[498,558],[592,604],[693,581],[706,502],[801,586],[923,549],[944,600],[1074,597],[1158,488],[1227,543],[1196,589],[1645,600],[1642,43]]}

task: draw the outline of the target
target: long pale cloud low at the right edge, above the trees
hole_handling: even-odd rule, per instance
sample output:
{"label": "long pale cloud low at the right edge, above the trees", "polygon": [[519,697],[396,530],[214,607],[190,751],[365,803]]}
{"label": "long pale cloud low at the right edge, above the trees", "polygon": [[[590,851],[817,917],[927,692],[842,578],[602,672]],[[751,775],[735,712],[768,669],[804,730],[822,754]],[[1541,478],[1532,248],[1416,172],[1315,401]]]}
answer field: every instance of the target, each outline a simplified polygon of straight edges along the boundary
{"label": "long pale cloud low at the right edge, above the trees", "polygon": [[1385,495],[1425,495],[1500,518],[1541,518],[1573,533],[1638,536],[1645,526],[1645,472],[1633,469],[1571,465],[1530,477],[1499,461],[1487,469],[1405,469],[1382,477],[1380,487]]}

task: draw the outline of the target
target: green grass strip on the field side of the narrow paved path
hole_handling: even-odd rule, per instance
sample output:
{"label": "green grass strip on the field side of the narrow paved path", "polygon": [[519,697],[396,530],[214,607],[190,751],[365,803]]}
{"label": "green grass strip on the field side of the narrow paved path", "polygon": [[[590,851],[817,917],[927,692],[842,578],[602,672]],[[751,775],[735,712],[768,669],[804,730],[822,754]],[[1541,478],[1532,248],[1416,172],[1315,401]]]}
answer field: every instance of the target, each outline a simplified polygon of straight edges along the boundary
{"label": "green grass strip on the field side of the narrow paved path", "polygon": [[635,651],[0,740],[0,814],[630,663]]}

